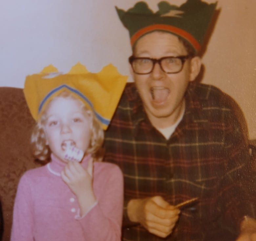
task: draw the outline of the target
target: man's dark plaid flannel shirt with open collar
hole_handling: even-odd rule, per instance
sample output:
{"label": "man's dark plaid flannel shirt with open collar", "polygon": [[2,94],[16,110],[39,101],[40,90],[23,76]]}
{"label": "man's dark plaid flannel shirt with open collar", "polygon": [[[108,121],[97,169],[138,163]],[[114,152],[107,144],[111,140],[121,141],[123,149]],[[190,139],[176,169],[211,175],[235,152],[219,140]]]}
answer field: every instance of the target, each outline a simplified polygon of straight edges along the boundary
{"label": "man's dark plaid flannel shirt with open collar", "polygon": [[[185,103],[181,122],[166,140],[148,120],[134,83],[128,83],[105,133],[104,160],[119,165],[124,175],[125,241],[234,240],[243,216],[256,211],[255,196],[249,200],[243,192],[255,183],[232,99],[216,87],[190,83]],[[199,198],[181,210],[166,239],[129,222],[126,212],[129,200],[158,195],[172,205]]]}

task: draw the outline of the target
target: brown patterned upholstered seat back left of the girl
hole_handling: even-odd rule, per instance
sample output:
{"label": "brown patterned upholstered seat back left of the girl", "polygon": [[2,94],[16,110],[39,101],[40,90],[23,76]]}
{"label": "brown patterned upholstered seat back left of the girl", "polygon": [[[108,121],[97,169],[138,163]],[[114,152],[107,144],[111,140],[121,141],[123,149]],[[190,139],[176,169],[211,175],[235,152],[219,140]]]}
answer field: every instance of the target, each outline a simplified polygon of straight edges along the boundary
{"label": "brown patterned upholstered seat back left of the girl", "polygon": [[34,120],[20,88],[0,87],[0,199],[4,233],[2,241],[10,240],[12,209],[17,184],[28,169],[40,166],[30,150]]}

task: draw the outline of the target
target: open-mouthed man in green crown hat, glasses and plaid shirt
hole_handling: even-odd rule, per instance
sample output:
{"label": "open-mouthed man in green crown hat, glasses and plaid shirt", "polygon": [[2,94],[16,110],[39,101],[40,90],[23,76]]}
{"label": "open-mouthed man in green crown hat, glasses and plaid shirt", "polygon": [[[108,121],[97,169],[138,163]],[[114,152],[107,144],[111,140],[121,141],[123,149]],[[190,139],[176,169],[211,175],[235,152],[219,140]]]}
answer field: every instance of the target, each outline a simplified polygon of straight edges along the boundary
{"label": "open-mouthed man in green crown hat, glasses and plaid shirt", "polygon": [[105,137],[105,160],[124,173],[123,240],[256,240],[255,183],[231,99],[193,82],[216,4],[158,6],[117,9],[135,82]]}

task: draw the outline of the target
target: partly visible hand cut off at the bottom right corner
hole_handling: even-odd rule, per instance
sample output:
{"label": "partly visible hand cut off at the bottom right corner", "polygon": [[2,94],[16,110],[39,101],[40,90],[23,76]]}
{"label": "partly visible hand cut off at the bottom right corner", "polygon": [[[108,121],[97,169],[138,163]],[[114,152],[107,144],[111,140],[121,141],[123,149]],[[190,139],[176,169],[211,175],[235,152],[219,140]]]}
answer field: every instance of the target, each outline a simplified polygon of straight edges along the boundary
{"label": "partly visible hand cut off at the bottom right corner", "polygon": [[256,220],[246,217],[240,224],[240,234],[236,241],[256,241]]}

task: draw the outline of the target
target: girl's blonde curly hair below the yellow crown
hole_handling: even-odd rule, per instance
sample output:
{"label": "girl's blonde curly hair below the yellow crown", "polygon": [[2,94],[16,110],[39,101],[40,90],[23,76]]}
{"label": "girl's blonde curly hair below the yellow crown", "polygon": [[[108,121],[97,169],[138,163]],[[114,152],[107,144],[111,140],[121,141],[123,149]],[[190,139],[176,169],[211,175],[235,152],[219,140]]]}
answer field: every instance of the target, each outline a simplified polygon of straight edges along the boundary
{"label": "girl's blonde curly hair below the yellow crown", "polygon": [[[58,96],[54,97],[58,98],[69,98],[69,99],[75,99],[80,101],[78,98],[75,98],[73,95],[71,95],[67,91],[61,92]],[[53,101],[53,99],[48,103],[47,107],[49,104]],[[92,122],[91,122],[91,140],[90,140],[90,145],[86,151],[86,154],[91,154],[96,161],[100,161],[102,159],[103,155],[103,149],[102,149],[102,143],[104,139],[104,131],[101,128],[101,125],[99,121],[97,120],[94,112],[91,110],[88,110],[85,105],[80,101],[81,103],[81,108],[87,112],[87,114],[92,116]],[[40,161],[48,161],[50,159],[50,154],[51,150],[48,145],[46,145],[46,135],[44,131],[44,126],[46,123],[46,110],[42,113],[41,118],[38,120],[36,123],[33,131],[32,131],[32,136],[31,136],[31,144],[32,144],[32,153],[34,157]]]}

